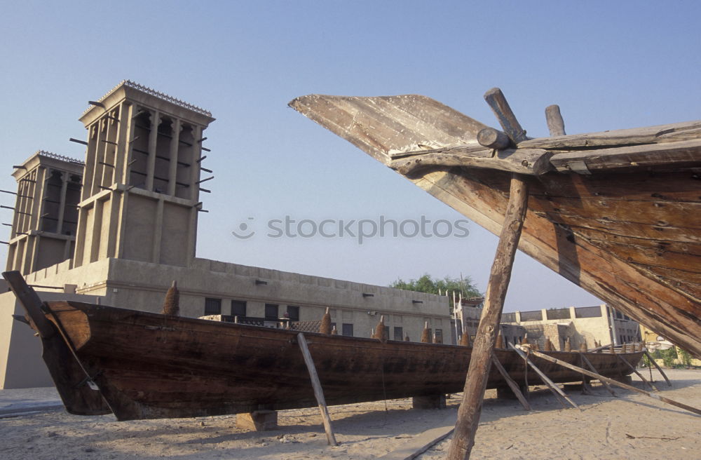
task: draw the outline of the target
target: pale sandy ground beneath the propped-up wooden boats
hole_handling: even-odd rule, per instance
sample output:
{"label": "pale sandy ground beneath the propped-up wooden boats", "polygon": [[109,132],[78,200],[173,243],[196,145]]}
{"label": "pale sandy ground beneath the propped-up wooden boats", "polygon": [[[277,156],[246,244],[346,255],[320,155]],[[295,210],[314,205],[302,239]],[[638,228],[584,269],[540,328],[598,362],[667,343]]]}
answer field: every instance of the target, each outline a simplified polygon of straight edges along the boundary
{"label": "pale sandy ground beneath the propped-up wooden boats", "polygon": [[[668,374],[673,386],[657,382],[661,393],[701,407],[701,371]],[[36,400],[50,404],[50,390],[32,391],[0,390],[0,409],[6,409],[0,415],[0,459],[376,459],[429,428],[454,423],[459,404],[454,396],[447,410],[413,410],[411,400],[329,407],[340,442],[329,447],[315,409],[279,412],[278,430],[259,433],[237,429],[236,416],[118,422],[111,415],[7,410],[36,408]],[[541,389],[531,393],[533,412],[525,412],[515,400],[498,400],[488,391],[472,458],[701,459],[701,417],[638,393],[617,392],[621,398],[601,386],[597,395],[569,389],[578,411],[563,409]],[[444,458],[449,442],[418,458]]]}

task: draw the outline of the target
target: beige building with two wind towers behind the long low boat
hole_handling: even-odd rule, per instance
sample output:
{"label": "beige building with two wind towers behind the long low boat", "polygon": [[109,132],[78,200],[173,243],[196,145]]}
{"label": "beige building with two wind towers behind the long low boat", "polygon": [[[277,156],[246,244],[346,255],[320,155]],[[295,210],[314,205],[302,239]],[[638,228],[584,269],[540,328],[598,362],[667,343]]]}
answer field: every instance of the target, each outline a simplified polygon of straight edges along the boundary
{"label": "beige building with two wind towers behind the long low boat", "polygon": [[[39,151],[13,173],[6,266],[43,299],[160,311],[177,280],[183,316],[274,327],[320,320],[329,307],[339,334],[369,337],[383,315],[390,339],[418,341],[424,323],[454,337],[447,297],[196,257],[210,112],[123,81],[80,120],[87,140],[74,141],[86,145],[84,163]],[[39,341],[10,319],[20,313],[10,292],[0,309],[0,388],[51,385]]]}

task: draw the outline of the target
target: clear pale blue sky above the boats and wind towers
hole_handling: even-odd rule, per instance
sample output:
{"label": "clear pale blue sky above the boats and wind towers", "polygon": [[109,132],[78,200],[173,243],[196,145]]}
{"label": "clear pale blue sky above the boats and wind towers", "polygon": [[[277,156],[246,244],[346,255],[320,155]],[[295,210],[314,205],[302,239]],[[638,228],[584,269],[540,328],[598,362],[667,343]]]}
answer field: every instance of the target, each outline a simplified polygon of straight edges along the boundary
{"label": "clear pale blue sky above the boats and wind towers", "polygon": [[[37,149],[81,158],[78,117],[122,79],[209,109],[215,180],[198,256],[386,285],[471,276],[484,290],[496,237],[231,235],[268,219],[461,216],[286,104],[308,93],[420,93],[491,126],[503,89],[529,135],[559,104],[570,134],[701,118],[698,2],[3,1],[0,187]],[[9,195],[0,196],[11,204]],[[254,217],[247,221],[247,217]],[[0,210],[9,222],[10,211]],[[4,236],[1,239],[6,239]],[[0,254],[4,260],[5,252]],[[597,299],[519,255],[505,309]]]}

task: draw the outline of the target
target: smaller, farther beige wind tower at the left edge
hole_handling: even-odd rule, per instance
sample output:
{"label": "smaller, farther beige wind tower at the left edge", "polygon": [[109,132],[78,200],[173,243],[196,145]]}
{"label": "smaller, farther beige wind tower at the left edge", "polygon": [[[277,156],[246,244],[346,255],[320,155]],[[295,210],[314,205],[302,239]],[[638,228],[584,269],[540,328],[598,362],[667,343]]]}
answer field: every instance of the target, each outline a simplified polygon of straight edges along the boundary
{"label": "smaller, farther beige wind tower at the left edge", "polygon": [[[7,270],[23,275],[73,255],[83,162],[39,150],[15,166],[14,217],[10,225]],[[11,193],[11,192],[8,192]]]}

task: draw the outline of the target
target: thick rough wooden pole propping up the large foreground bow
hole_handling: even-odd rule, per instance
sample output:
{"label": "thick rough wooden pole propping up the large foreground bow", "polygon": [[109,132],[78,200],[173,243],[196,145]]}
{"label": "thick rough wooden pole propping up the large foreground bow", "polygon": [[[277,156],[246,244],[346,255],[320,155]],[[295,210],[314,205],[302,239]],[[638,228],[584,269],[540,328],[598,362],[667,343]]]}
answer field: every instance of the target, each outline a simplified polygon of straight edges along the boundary
{"label": "thick rough wooden pole propping up the large foreground bow", "polygon": [[479,424],[479,414],[482,409],[489,367],[491,367],[499,320],[528,205],[528,184],[524,177],[512,176],[509,197],[503,230],[499,237],[489,284],[484,296],[484,309],[477,327],[468,376],[465,379],[463,400],[458,410],[458,420],[447,455],[449,460],[468,459],[475,444],[475,433]]}

